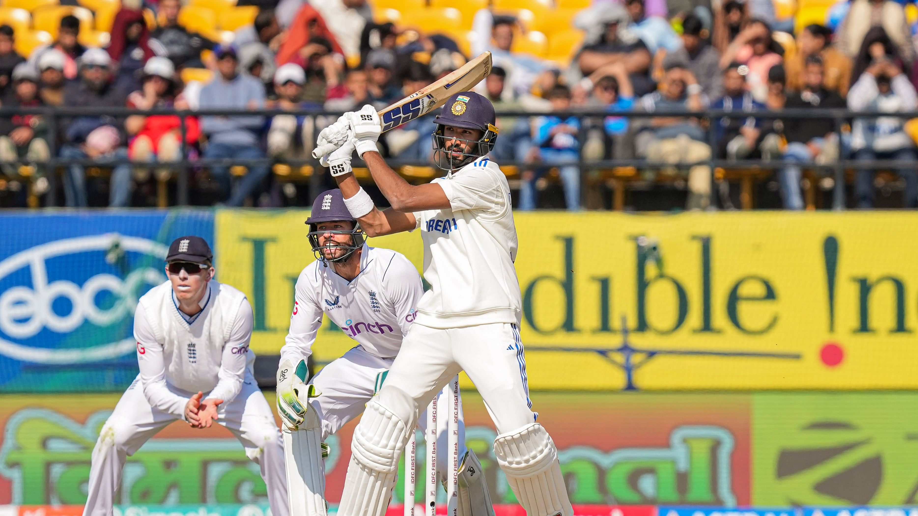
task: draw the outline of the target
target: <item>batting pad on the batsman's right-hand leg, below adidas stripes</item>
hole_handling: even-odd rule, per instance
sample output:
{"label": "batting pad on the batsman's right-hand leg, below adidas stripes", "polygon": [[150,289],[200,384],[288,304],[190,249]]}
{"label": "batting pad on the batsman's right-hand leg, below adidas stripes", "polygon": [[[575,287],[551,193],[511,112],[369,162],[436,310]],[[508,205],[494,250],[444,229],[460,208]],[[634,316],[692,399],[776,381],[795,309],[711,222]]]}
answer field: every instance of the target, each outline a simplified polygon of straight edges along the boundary
{"label": "batting pad on the batsman's right-hand leg, below adidas stripes", "polygon": [[573,516],[561,475],[558,450],[539,423],[494,440],[494,454],[507,482],[529,516]]}

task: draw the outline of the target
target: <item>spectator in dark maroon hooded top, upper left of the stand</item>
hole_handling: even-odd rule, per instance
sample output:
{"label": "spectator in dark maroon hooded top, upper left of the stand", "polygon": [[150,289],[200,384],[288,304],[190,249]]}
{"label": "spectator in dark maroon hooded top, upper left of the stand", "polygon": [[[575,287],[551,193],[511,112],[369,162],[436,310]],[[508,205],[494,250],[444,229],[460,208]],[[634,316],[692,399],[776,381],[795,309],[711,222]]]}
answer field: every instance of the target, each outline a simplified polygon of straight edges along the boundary
{"label": "spectator in dark maroon hooded top, upper left of the stand", "polygon": [[143,12],[122,7],[112,23],[111,41],[106,50],[118,69],[116,81],[129,91],[140,87],[138,74],[143,63],[153,57],[149,42],[150,29]]}

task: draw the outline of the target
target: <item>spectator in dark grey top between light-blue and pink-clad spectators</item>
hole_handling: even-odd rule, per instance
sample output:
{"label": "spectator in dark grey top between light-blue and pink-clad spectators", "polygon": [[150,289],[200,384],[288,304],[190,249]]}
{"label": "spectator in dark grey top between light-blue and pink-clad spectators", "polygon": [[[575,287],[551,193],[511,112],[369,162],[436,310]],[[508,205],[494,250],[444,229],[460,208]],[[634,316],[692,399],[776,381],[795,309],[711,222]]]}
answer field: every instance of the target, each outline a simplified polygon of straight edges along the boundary
{"label": "spectator in dark grey top between light-blue and pink-clad spectators", "polygon": [[721,54],[705,40],[706,32],[700,17],[694,14],[685,17],[682,20],[682,47],[666,52],[663,68],[679,65],[689,69],[698,78],[704,95],[720,98],[723,95]]}

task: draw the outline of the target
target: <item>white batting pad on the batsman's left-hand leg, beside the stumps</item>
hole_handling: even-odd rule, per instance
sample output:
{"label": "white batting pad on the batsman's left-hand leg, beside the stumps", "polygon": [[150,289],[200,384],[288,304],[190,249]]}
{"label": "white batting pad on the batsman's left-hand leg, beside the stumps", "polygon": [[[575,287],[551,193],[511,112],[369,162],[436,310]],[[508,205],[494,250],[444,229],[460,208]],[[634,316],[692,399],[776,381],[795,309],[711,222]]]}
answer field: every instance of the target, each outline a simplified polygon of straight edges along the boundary
{"label": "white batting pad on the batsman's left-hand leg, beside the stumps", "polygon": [[401,450],[408,443],[405,423],[376,401],[366,404],[353,431],[340,516],[383,516],[386,513]]}

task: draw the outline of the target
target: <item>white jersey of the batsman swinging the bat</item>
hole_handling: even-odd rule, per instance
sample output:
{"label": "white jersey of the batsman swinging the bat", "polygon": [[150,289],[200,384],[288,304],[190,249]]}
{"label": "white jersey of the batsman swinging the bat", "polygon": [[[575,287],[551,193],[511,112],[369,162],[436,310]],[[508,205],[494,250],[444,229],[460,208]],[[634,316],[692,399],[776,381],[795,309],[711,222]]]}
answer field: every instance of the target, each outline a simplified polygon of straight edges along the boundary
{"label": "white jersey of the batsman swinging the bat", "polygon": [[431,328],[518,324],[522,301],[507,177],[484,157],[433,183],[452,208],[414,213],[424,242],[424,279],[431,284],[415,321]]}

